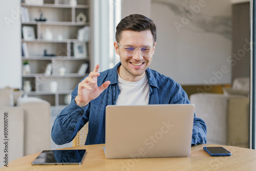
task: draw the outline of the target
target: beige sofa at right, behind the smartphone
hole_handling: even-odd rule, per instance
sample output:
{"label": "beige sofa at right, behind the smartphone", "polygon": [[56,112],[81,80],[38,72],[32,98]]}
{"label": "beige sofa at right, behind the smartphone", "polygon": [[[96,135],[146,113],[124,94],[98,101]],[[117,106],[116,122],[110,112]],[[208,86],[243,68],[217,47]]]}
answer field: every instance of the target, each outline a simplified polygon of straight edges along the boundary
{"label": "beige sofa at right, behind the smartphone", "polygon": [[249,78],[235,79],[232,88],[223,89],[224,94],[190,95],[197,117],[206,122],[207,143],[249,147],[248,82]]}

